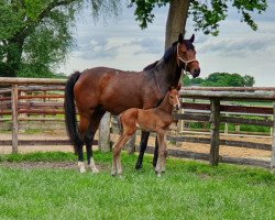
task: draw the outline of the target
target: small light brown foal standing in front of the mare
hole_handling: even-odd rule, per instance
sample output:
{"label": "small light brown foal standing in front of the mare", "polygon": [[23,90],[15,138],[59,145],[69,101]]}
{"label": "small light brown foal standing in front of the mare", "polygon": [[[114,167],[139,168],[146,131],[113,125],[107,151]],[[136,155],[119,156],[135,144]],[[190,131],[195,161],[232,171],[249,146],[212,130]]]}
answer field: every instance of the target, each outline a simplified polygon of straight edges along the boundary
{"label": "small light brown foal standing in front of the mare", "polygon": [[176,107],[177,110],[179,109],[179,89],[180,85],[177,86],[177,88],[170,88],[161,105],[154,109],[144,110],[131,108],[121,113],[120,122],[123,128],[123,133],[113,147],[111,172],[113,176],[122,174],[121,150],[138,129],[147,132],[156,132],[160,150],[155,170],[157,176],[161,176],[161,173],[165,172],[167,156],[166,133],[172,122],[174,122],[172,117],[174,107]]}

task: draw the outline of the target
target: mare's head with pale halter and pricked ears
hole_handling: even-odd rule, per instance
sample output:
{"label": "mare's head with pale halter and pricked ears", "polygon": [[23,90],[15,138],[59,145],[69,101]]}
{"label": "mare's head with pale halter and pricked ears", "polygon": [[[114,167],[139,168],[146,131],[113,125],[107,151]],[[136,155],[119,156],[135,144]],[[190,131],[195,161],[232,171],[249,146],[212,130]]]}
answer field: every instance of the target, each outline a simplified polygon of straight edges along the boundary
{"label": "mare's head with pale halter and pricked ears", "polygon": [[177,64],[185,72],[189,72],[194,78],[200,74],[199,62],[196,59],[196,51],[193,42],[195,35],[193,34],[189,40],[184,40],[183,34],[178,35],[177,41]]}

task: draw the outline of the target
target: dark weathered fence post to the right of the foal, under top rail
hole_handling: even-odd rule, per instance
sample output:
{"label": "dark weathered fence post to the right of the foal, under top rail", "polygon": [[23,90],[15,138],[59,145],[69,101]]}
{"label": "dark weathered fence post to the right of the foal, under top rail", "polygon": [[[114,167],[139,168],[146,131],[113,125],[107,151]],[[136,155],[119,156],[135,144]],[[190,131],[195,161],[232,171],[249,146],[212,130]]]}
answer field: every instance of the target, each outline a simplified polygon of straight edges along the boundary
{"label": "dark weathered fence post to the right of the foal, under top rail", "polygon": [[210,143],[210,165],[217,166],[219,163],[219,147],[220,147],[220,100],[210,100],[210,122],[211,122],[211,143]]}

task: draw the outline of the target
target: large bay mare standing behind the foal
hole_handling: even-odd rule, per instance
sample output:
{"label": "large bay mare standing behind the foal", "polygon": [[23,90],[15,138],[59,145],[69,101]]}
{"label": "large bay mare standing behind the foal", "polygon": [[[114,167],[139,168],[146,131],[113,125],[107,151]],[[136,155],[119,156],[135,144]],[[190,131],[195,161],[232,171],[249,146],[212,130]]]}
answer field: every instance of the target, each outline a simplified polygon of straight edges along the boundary
{"label": "large bay mare standing behind the foal", "polygon": [[[65,123],[67,133],[78,155],[78,167],[85,172],[84,151],[86,144],[88,165],[97,173],[92,158],[92,142],[101,118],[106,111],[120,114],[130,108],[151,109],[165,97],[169,87],[176,87],[182,69],[193,77],[199,76],[200,67],[193,45],[195,35],[178,41],[165,52],[161,61],[142,72],[123,72],[108,67],[95,67],[82,73],[76,72],[67,80],[65,88]],[[76,108],[79,123],[76,120]],[[142,167],[148,132],[142,132],[140,155],[135,167]],[[156,142],[157,143],[157,142]],[[157,153],[155,147],[155,155]],[[154,157],[154,165],[156,157]]]}

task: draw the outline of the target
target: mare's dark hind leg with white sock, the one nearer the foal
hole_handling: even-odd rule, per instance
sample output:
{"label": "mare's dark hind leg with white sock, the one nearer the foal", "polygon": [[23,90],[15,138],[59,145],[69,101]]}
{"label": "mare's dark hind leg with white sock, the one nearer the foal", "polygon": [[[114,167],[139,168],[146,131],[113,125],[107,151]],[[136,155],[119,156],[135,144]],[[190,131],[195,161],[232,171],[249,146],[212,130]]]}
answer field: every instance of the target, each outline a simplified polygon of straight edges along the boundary
{"label": "mare's dark hind leg with white sock, the one nearer the foal", "polygon": [[94,114],[90,118],[89,129],[85,135],[88,166],[90,167],[92,173],[98,173],[98,169],[95,164],[95,160],[92,157],[92,142],[94,142],[95,134],[98,130],[100,120],[103,117],[103,114],[105,114],[105,111],[100,109],[94,112]]}

